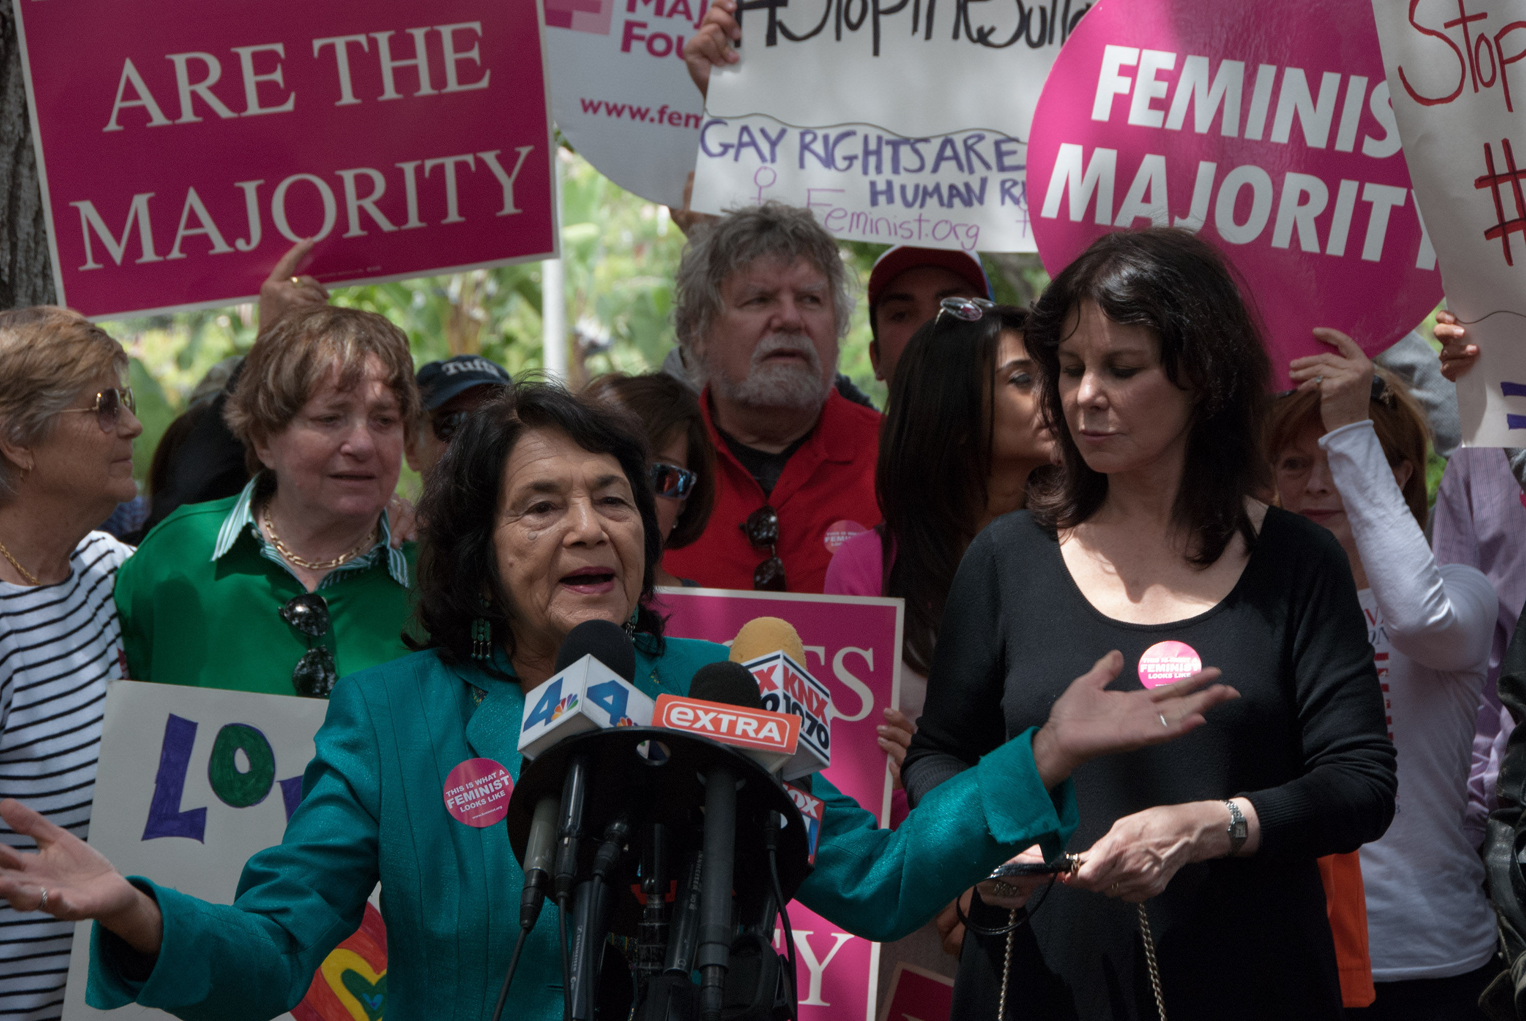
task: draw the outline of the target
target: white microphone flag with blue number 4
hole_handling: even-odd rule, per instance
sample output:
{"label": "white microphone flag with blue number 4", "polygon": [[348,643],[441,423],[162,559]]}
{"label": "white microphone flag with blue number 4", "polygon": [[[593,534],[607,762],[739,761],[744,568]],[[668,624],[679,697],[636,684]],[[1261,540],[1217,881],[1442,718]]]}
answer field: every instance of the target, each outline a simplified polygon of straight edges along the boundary
{"label": "white microphone flag with blue number 4", "polygon": [[583,656],[525,701],[519,754],[534,759],[559,740],[609,726],[649,726],[652,699],[592,655]]}

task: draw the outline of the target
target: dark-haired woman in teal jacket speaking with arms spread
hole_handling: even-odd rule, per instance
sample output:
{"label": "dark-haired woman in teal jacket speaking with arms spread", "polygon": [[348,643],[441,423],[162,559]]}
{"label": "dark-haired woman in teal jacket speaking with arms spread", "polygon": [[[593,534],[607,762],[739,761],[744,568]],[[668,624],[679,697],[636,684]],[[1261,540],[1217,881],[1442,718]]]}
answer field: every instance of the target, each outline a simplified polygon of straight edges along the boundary
{"label": "dark-haired woman in teal jacket speaking with arms spread", "polygon": [[[136,1000],[182,1018],[262,1019],[302,998],[380,879],[388,1015],[488,1016],[523,878],[504,826],[476,829],[447,810],[447,775],[491,759],[519,777],[526,693],[583,621],[633,623],[636,685],[649,696],[684,693],[697,667],[726,658],[723,646],[662,636],[649,604],[661,536],[645,478],[645,446],[618,412],[549,386],[484,404],[421,505],[429,647],[334,688],[302,804],[282,844],[249,861],[238,899],[214,905],[124,879],[14,801],[0,815],[41,852],[0,849],[0,896],[35,908],[46,891],[49,913],[101,922],[89,992],[98,1007]],[[1106,665],[1071,684],[1045,726],[945,783],[894,832],[818,778],[826,813],[800,900],[868,939],[903,934],[1013,853],[1058,849],[1074,818],[1065,777],[1076,765],[1184,734],[1233,697],[1202,688],[1213,672],[1154,693],[1105,691]],[[617,971],[604,969],[615,995]],[[554,911],[531,931],[517,975],[511,1016],[562,1015]]]}

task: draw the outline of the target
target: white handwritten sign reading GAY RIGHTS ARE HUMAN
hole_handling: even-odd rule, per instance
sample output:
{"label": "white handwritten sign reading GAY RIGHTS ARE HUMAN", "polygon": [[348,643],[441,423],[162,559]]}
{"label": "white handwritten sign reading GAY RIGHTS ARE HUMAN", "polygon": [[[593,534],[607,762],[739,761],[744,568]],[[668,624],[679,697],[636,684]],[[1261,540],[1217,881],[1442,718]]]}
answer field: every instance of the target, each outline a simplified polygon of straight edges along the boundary
{"label": "white handwritten sign reading GAY RIGHTS ARE HUMAN", "polygon": [[1033,252],[1029,127],[1090,6],[743,0],[742,61],[710,76],[693,208],[774,198],[844,240]]}

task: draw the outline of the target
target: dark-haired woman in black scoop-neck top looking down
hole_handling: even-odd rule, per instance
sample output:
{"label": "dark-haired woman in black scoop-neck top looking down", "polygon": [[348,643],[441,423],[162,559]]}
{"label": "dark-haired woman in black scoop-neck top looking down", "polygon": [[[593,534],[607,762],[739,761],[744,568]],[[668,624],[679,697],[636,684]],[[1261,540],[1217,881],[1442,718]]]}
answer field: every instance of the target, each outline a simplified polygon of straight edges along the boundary
{"label": "dark-haired woman in black scoop-neck top looking down", "polygon": [[[1068,850],[1085,864],[1018,929],[1007,1016],[1154,1018],[1148,902],[1172,1021],[1338,1018],[1315,858],[1383,835],[1395,759],[1344,554],[1251,496],[1270,383],[1256,324],[1213,249],[1151,229],[1093,244],[1027,337],[1064,478],[960,565],[908,795],[1042,722],[1108,650],[1114,688],[1201,664],[1242,697],[1180,742],[1076,771]],[[995,1015],[1006,951],[964,942],[955,1016]]]}

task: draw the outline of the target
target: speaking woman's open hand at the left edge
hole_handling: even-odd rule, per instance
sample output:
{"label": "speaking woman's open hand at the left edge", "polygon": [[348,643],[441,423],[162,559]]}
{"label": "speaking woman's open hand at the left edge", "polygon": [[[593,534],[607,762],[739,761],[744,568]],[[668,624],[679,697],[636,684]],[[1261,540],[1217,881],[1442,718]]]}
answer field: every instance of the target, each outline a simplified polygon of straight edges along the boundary
{"label": "speaking woman's open hand at the left edge", "polygon": [[37,842],[37,853],[0,844],[0,899],[17,911],[43,911],[66,922],[98,919],[134,949],[159,951],[159,907],[101,852],[14,798],[0,801],[0,818]]}

